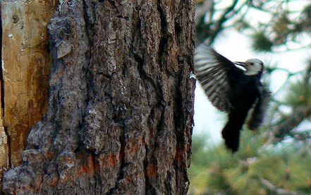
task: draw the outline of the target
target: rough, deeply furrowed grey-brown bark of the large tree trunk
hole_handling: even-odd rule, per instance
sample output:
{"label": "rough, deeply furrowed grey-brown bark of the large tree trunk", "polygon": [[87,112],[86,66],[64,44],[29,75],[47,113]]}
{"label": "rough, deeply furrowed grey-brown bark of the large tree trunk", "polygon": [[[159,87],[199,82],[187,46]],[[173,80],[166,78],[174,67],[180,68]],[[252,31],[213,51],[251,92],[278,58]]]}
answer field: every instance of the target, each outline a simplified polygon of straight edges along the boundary
{"label": "rough, deeply furrowed grey-brown bark of the large tree trunk", "polygon": [[60,1],[47,114],[5,194],[185,194],[193,1]]}

